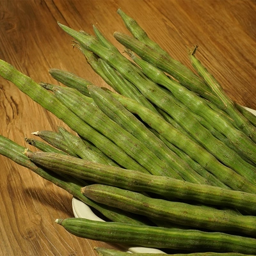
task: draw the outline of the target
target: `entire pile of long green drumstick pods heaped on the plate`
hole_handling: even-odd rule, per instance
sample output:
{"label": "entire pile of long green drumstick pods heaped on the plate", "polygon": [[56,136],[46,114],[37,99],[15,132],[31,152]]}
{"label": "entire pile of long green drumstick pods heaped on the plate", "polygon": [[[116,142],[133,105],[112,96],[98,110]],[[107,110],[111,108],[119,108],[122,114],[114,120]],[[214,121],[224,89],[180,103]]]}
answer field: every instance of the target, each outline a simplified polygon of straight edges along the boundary
{"label": "entire pile of long green drumstick pods heaped on the plate", "polygon": [[[141,56],[131,55],[135,63],[95,26],[92,36],[58,24],[122,95],[57,69],[49,72],[66,86],[37,84],[0,60],[0,76],[78,135],[62,127],[42,131],[52,147],[26,138],[44,152],[0,136],[0,154],[113,221],[56,220],[76,236],[198,255],[256,255],[255,116],[228,99],[195,51],[189,54],[199,77],[150,40],[135,20],[118,13],[135,38],[114,36],[130,55],[132,49]],[[123,253],[114,251],[97,252]]]}

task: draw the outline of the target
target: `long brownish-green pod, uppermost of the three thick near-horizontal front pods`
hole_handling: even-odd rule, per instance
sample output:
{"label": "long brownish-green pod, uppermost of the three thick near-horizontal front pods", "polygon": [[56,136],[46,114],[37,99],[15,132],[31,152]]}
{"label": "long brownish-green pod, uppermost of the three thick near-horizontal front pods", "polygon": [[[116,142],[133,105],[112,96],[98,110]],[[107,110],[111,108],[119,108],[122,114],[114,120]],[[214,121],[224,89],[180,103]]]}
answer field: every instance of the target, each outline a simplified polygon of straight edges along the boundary
{"label": "long brownish-green pod, uppermost of the three thick near-horizontal front pods", "polygon": [[93,163],[72,156],[47,152],[26,152],[26,156],[54,172],[66,173],[84,180],[116,186],[131,191],[154,193],[164,198],[194,200],[201,204],[217,205],[256,212],[256,196],[251,193],[194,184],[184,180],[128,170],[106,164]]}

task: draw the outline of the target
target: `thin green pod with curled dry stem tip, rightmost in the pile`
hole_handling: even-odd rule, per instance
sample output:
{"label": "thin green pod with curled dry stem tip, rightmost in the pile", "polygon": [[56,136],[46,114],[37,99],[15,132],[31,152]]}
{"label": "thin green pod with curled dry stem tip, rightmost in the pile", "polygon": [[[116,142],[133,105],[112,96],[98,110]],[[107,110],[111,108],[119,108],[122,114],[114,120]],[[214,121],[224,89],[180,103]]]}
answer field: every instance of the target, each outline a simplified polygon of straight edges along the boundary
{"label": "thin green pod with curled dry stem tip, rightmost in the pile", "polygon": [[239,129],[241,129],[244,134],[256,142],[256,127],[250,124],[248,119],[236,109],[234,101],[228,97],[220,83],[218,83],[215,77],[212,76],[207,68],[205,68],[204,65],[202,65],[202,63],[196,58],[195,52],[196,47],[195,49],[191,50],[189,60],[191,61],[196,72],[204,79],[205,83],[208,84],[208,86],[212,89],[212,92],[214,92],[219,97],[221,102],[223,102],[223,105],[225,105],[225,111],[234,119]]}

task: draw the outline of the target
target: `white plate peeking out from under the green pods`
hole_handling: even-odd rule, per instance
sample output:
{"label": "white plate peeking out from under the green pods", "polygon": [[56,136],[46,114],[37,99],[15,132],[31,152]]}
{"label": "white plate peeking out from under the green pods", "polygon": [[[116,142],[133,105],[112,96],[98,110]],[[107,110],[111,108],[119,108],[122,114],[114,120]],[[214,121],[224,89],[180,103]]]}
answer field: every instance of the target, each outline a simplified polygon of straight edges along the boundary
{"label": "white plate peeking out from under the green pods", "polygon": [[[252,112],[254,115],[256,115],[256,111],[250,108],[246,108],[248,111]],[[99,218],[93,211],[90,209],[90,207],[80,200],[77,200],[76,198],[72,198],[72,208],[74,212],[74,216],[76,218],[86,218],[88,220],[97,220],[97,221],[104,221],[101,218]],[[127,248],[127,252],[131,253],[164,253],[161,250],[154,249],[154,248],[145,248],[145,247],[131,247]],[[166,254],[166,253],[164,253]]]}

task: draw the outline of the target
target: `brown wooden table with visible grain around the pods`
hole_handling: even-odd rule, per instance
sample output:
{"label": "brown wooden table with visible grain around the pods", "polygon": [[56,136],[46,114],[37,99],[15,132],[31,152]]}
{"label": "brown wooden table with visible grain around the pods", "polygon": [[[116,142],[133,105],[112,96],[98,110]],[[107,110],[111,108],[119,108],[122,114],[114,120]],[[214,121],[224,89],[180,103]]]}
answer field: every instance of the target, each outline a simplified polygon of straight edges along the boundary
{"label": "brown wooden table with visible grain around the pods", "polygon": [[[256,2],[237,0],[0,1],[0,58],[36,82],[55,83],[49,68],[61,68],[106,86],[86,63],[57,20],[93,33],[92,24],[122,51],[114,31],[128,33],[116,10],[136,19],[150,38],[191,67],[187,47],[239,104],[256,109]],[[66,127],[58,118],[0,78],[0,134],[24,147],[31,132]],[[31,148],[31,147],[30,147]],[[31,148],[33,149],[33,148]],[[73,216],[72,196],[0,156],[0,255],[96,255],[94,246],[54,224]]]}

